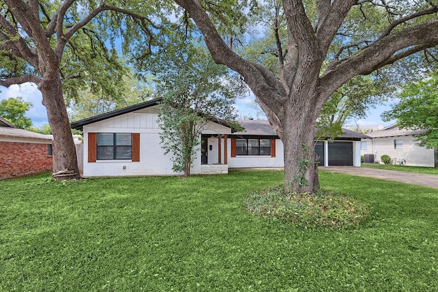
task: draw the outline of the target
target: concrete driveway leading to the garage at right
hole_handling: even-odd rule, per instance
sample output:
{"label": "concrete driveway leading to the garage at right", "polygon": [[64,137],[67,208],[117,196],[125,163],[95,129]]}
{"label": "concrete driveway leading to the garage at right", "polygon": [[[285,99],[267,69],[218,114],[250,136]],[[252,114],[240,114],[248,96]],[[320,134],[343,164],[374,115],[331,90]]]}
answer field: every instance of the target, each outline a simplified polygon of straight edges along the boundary
{"label": "concrete driveway leading to the garage at right", "polygon": [[320,169],[329,172],[342,172],[345,174],[368,176],[386,179],[388,181],[410,183],[411,185],[438,188],[438,176],[433,174],[418,174],[415,172],[403,172],[398,170],[378,170],[375,168],[355,168],[352,166],[329,166]]}

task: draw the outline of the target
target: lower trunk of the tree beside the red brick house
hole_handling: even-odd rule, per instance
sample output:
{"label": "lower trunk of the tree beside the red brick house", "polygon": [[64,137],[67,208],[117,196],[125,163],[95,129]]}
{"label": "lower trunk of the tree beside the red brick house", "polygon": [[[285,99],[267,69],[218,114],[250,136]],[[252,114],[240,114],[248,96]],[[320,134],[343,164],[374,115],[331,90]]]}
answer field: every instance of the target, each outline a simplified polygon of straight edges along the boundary
{"label": "lower trunk of the tree beside the red brick house", "polygon": [[62,180],[81,178],[61,80],[59,77],[44,78],[38,88],[42,92],[42,104],[47,108],[53,133],[53,178]]}

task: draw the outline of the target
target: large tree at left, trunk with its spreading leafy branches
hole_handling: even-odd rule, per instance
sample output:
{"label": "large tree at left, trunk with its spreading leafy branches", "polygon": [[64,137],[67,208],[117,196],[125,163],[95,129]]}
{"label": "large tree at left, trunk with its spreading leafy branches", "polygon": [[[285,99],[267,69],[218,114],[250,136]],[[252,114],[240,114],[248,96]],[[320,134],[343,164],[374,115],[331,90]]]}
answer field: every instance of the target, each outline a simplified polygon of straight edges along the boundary
{"label": "large tree at left, trunk with its spreading leafy branches", "polygon": [[[136,5],[133,1],[129,4]],[[143,15],[161,8],[148,1]],[[79,178],[75,145],[64,94],[79,90],[118,94],[126,68],[120,62],[114,38],[137,27],[137,40],[149,44],[153,21],[122,8],[125,1],[5,0],[0,3],[0,85],[34,82],[53,133],[53,177]],[[126,34],[128,37],[128,34]]]}

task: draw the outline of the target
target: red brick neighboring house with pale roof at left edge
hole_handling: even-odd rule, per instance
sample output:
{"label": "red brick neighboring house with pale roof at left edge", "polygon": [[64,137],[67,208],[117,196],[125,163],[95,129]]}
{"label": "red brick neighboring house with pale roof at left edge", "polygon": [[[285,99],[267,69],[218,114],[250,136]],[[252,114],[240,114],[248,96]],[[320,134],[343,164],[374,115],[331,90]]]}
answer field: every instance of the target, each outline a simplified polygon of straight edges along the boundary
{"label": "red brick neighboring house with pale roof at left edge", "polygon": [[16,127],[0,118],[0,180],[52,170],[51,135]]}

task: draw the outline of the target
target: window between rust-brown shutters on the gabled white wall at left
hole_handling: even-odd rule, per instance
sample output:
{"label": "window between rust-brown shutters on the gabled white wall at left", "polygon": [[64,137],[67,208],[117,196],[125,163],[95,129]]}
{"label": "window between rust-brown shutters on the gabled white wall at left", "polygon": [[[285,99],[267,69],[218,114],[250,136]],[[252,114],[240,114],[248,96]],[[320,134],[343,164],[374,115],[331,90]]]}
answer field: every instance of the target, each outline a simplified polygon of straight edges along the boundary
{"label": "window between rust-brown shutters on the gabled white wall at left", "polygon": [[97,133],[98,160],[131,159],[131,133]]}

